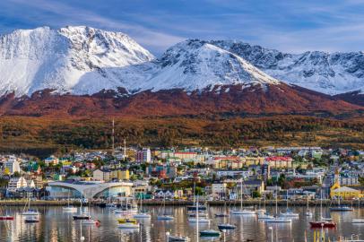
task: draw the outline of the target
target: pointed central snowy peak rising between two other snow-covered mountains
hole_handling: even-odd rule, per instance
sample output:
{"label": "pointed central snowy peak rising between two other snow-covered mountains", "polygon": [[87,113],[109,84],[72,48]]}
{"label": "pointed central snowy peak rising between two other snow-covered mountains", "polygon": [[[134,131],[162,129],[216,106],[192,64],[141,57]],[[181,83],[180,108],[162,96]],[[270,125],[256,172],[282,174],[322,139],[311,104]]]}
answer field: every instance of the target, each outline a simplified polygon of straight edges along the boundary
{"label": "pointed central snowy peak rising between two other snow-covered mountains", "polygon": [[200,40],[183,41],[169,48],[158,60],[121,68],[118,72],[129,91],[133,87],[139,91],[201,91],[216,85],[264,87],[281,83],[242,57]]}

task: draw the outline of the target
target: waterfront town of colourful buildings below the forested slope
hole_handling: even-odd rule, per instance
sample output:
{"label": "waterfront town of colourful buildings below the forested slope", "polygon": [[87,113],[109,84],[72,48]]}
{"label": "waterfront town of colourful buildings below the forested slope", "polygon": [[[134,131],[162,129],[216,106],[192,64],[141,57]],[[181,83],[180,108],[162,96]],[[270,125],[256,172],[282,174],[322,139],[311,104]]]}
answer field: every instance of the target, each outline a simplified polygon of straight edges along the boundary
{"label": "waterfront town of colourful buildings below the forested slope", "polygon": [[[207,203],[328,200],[364,197],[364,151],[320,147],[213,150],[118,147],[73,151],[39,159],[0,156],[4,201],[84,199],[116,203],[123,197]],[[259,202],[260,204],[260,202]]]}

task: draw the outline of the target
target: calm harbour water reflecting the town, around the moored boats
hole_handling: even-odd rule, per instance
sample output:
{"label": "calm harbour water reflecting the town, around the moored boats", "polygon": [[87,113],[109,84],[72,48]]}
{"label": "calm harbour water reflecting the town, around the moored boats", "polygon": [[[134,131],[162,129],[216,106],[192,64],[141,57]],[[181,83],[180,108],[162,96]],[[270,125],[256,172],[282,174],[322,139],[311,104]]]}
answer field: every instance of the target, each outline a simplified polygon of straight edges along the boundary
{"label": "calm harbour water reflecting the town, around the moored boats", "polygon": [[[280,208],[284,210],[284,208]],[[4,210],[4,209],[3,209]],[[117,216],[108,208],[90,208],[89,211],[95,219],[101,221],[98,228],[94,225],[82,225],[82,235],[84,241],[165,241],[165,233],[180,234],[195,239],[195,224],[188,223],[186,220],[185,207],[169,207],[167,212],[173,213],[175,220],[160,221],[156,220],[160,207],[146,207],[152,213],[152,220],[141,220],[143,227],[140,231],[126,231],[117,229]],[[222,212],[222,207],[211,207],[209,210],[210,218],[213,218],[210,229],[217,229],[217,224],[223,218],[214,219],[213,214]],[[271,212],[272,208],[267,209]],[[73,220],[73,213],[62,211],[61,207],[41,207],[42,213],[40,222],[37,224],[26,224],[20,215],[22,208],[8,207],[7,212],[14,214],[13,221],[0,221],[0,241],[80,241],[80,221]],[[304,214],[305,208],[294,208],[293,211]],[[319,209],[315,209],[318,216]],[[360,213],[360,215],[359,215]],[[330,212],[324,209],[324,216],[328,217]],[[364,238],[364,224],[351,224],[352,218],[364,217],[364,210],[354,210],[353,212],[331,212],[334,221],[338,223],[336,229],[325,230],[333,238],[340,236],[350,237],[351,234],[360,234]],[[226,233],[226,241],[271,241],[271,231],[263,222],[257,220],[256,216],[232,215],[225,219],[238,226],[237,229]],[[304,241],[304,234],[307,231],[308,241],[313,241],[314,230],[309,228],[308,218],[301,215],[299,219],[293,220],[291,224],[273,225],[274,241]],[[272,226],[272,225],[271,225]],[[209,229],[208,225],[200,224],[200,229]],[[206,239],[200,238],[200,241]],[[211,240],[210,240],[211,241]],[[224,241],[223,237],[212,241]]]}

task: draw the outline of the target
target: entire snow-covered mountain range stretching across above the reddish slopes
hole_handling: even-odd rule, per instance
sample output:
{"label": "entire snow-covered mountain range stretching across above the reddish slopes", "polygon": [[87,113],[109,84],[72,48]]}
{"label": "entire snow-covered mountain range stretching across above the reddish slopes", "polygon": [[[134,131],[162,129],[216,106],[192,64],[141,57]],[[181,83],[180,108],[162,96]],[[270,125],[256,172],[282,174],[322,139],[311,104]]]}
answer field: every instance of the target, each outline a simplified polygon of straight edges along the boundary
{"label": "entire snow-covered mountain range stretching across above the reddish slopes", "polygon": [[119,87],[129,93],[195,91],[281,81],[330,95],[364,91],[364,54],[293,55],[238,41],[188,39],[156,59],[124,33],[83,26],[0,37],[0,96],[44,89],[93,94]]}

